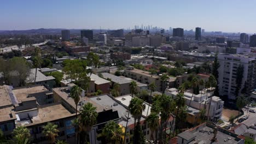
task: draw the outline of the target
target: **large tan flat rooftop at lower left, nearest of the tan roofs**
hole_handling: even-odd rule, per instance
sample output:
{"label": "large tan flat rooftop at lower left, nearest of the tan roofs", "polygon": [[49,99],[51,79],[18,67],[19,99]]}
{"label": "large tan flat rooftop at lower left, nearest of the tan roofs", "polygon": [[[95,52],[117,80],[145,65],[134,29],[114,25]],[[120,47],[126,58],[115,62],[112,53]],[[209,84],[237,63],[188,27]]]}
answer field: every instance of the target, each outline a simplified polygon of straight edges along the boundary
{"label": "large tan flat rooftop at lower left, nearest of the tan roofs", "polygon": [[43,107],[39,107],[38,115],[31,118],[31,121],[33,122],[31,124],[55,121],[56,119],[73,115],[75,115],[75,113],[72,114],[61,104],[45,105]]}

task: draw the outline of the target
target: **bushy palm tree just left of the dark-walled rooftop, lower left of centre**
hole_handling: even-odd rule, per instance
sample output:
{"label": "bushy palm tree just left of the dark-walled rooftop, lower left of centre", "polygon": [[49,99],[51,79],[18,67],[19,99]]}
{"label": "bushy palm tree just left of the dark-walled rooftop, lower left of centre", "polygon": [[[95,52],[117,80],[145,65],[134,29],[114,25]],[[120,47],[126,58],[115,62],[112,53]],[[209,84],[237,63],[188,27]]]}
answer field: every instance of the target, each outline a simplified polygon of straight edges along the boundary
{"label": "bushy palm tree just left of the dark-walled rooftop, lower left of centre", "polygon": [[85,142],[87,143],[87,136],[92,129],[92,126],[97,123],[98,113],[96,112],[96,107],[94,107],[91,103],[86,103],[81,107],[80,110],[80,124],[82,126],[82,130],[85,134]]}

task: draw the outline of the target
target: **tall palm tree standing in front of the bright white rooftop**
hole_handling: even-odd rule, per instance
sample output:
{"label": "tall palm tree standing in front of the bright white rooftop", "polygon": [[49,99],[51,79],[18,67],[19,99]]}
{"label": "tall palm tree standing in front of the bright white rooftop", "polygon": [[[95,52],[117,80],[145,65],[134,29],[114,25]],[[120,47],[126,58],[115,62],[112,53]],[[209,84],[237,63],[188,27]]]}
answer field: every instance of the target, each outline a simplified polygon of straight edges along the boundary
{"label": "tall palm tree standing in front of the bright white rooftop", "polygon": [[[136,120],[138,120],[138,124],[139,124],[139,121],[141,119],[141,116],[142,116],[142,112],[146,109],[146,105],[144,104],[144,101],[142,99],[139,99],[139,98],[133,98],[131,99],[130,101],[130,104],[129,104],[129,109],[131,111],[131,115],[133,116],[134,118],[134,126],[136,127]],[[136,139],[136,136],[138,136],[137,134],[137,131],[134,129],[134,143],[136,143],[138,140]]]}

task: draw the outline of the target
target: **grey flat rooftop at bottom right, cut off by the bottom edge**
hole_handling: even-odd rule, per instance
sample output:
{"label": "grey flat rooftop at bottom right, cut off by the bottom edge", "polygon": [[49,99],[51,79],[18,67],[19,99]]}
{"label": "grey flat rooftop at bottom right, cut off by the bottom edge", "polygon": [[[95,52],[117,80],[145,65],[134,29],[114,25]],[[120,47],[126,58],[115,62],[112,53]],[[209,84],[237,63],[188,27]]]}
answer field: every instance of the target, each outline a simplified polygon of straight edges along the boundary
{"label": "grey flat rooftop at bottom right, cut off by the bottom edge", "polygon": [[[183,139],[186,140],[192,140],[193,141],[189,142],[189,143],[229,143],[229,144],[233,144],[233,143],[238,143],[239,141],[241,141],[240,138],[238,138],[236,134],[232,133],[231,131],[225,130],[223,128],[218,127],[218,131],[217,131],[217,142],[211,142],[210,139],[212,139],[213,137],[213,128],[215,126],[208,124],[208,123],[203,123],[198,125],[195,128],[189,129],[187,131],[184,131],[181,134],[178,134],[178,137],[182,137]],[[228,138],[231,138],[230,140],[228,140]],[[228,141],[224,141],[224,140],[228,140]]]}

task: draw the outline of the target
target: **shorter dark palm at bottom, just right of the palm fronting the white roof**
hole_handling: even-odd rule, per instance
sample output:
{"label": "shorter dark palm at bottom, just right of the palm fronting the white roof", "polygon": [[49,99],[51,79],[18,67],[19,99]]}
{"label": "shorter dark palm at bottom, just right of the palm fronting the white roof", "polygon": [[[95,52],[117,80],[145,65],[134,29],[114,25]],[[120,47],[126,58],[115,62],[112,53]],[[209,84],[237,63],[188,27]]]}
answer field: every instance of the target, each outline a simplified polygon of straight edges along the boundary
{"label": "shorter dark palm at bottom, just right of the palm fronting the white roof", "polygon": [[[159,116],[157,113],[152,112],[150,113],[150,115],[146,118],[146,122],[148,123],[148,127],[150,129],[151,133],[151,137],[153,139],[153,141],[155,141],[155,143],[157,143],[158,140],[158,127],[159,127]],[[155,132],[155,140],[154,140],[154,134]]]}

